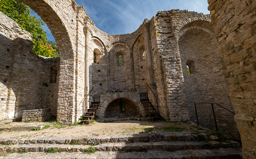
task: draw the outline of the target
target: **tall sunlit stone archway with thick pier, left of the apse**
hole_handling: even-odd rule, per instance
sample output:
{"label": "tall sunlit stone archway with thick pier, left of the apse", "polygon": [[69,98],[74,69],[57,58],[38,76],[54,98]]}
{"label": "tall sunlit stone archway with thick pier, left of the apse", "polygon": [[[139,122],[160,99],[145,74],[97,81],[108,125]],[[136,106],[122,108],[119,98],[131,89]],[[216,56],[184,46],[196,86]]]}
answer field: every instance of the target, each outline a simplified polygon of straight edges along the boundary
{"label": "tall sunlit stone archway with thick pier, left of the apse", "polygon": [[84,84],[77,83],[76,77],[78,72],[82,72],[78,71],[78,69],[84,69],[83,66],[78,66],[83,59],[77,58],[78,53],[84,52],[84,42],[77,39],[78,34],[80,34],[79,36],[84,36],[84,23],[78,21],[77,17],[84,19],[86,16],[85,9],[79,7],[74,0],[20,1],[28,5],[44,20],[59,47],[60,76],[57,120],[73,123],[78,120],[82,112],[79,102],[84,97],[84,91],[79,92],[79,90],[84,89]]}

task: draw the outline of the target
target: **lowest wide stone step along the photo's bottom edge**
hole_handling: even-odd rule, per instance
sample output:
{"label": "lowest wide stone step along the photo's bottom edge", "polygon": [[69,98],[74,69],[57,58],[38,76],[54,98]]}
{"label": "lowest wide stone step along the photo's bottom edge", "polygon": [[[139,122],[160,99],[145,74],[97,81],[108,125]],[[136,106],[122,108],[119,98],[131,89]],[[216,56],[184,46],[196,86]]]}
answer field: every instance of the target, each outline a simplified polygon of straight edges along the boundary
{"label": "lowest wide stone step along the photo's bottom edge", "polygon": [[8,155],[8,159],[242,159],[241,149],[234,148],[220,148],[218,150],[180,150],[175,152],[169,151],[147,151],[147,152],[95,152],[95,153],[83,153],[83,152],[61,152],[61,153],[44,153],[44,152],[31,152],[25,154],[12,153]]}

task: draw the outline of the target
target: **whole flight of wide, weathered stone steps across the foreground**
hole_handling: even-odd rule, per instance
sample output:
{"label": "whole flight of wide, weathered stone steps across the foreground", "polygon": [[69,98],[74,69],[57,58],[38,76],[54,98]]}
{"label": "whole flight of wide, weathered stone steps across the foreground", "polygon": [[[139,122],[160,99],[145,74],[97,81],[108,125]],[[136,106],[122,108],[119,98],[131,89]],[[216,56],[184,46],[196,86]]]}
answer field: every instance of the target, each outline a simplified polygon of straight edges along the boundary
{"label": "whole flight of wide, weathered stone steps across the foreground", "polygon": [[[200,136],[200,135],[199,135]],[[151,132],[105,137],[55,137],[0,140],[0,151],[27,150],[29,153],[12,153],[3,158],[144,158],[144,159],[241,159],[240,144],[231,141],[220,143],[196,141],[198,135],[180,132]],[[207,139],[209,140],[209,139]],[[75,143],[76,145],[72,144]],[[8,145],[10,144],[10,145]],[[97,145],[98,144],[98,145]],[[94,146],[95,145],[95,146]],[[60,153],[49,154],[49,149]],[[83,153],[88,148],[96,153]],[[58,156],[58,157],[57,157]],[[1,157],[0,157],[1,158]]]}

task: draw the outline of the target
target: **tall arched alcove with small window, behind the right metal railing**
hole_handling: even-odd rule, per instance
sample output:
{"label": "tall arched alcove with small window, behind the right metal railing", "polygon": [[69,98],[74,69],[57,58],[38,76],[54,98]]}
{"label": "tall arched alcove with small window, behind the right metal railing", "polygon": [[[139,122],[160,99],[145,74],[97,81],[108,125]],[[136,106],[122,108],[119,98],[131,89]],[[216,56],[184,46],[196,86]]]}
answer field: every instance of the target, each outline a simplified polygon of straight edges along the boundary
{"label": "tall arched alcove with small window, behind the right metal railing", "polygon": [[[230,97],[226,90],[227,81],[219,55],[218,41],[212,31],[203,26],[185,26],[179,33],[179,49],[184,77],[187,102],[219,103],[233,110]],[[188,74],[189,66],[190,74]],[[196,122],[194,103],[187,103],[190,120]],[[211,104],[197,105],[199,125],[214,129]],[[214,106],[218,127],[229,134],[237,136],[233,114]],[[224,126],[223,126],[224,125]],[[230,131],[232,130],[232,131]],[[232,133],[232,134],[231,134]]]}

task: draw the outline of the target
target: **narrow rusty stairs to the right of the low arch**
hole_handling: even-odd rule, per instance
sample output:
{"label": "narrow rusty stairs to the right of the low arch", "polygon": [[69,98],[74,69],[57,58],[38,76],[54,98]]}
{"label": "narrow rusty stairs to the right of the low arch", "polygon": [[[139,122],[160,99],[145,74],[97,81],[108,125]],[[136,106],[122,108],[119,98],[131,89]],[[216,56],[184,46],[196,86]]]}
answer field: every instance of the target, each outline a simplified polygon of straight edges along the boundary
{"label": "narrow rusty stairs to the right of the low arch", "polygon": [[161,116],[154,108],[154,105],[152,105],[152,103],[149,102],[148,93],[140,93],[140,102],[142,103],[152,122],[153,119],[161,119]]}

